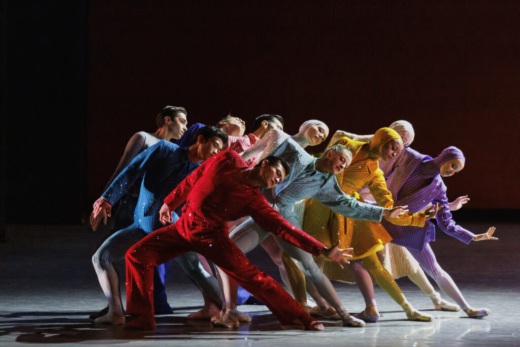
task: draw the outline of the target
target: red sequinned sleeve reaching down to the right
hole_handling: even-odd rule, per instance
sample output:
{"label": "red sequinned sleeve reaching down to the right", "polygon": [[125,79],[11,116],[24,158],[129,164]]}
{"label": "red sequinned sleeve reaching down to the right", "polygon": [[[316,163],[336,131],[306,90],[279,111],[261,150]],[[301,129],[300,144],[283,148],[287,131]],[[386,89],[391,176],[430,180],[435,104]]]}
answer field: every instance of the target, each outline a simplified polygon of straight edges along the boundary
{"label": "red sequinned sleeve reaching down to the right", "polygon": [[256,224],[266,232],[274,234],[313,255],[319,255],[323,249],[321,242],[284,220],[262,195],[258,195],[255,199],[249,201],[248,210]]}

